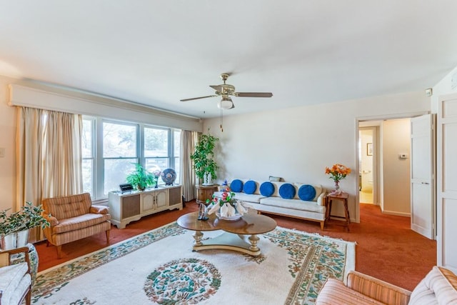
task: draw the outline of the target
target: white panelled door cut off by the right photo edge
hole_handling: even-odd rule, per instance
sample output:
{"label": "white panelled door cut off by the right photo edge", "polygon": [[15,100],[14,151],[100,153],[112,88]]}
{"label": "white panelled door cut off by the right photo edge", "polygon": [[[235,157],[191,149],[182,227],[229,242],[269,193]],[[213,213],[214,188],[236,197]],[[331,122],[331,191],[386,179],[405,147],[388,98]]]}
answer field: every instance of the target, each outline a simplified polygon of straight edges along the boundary
{"label": "white panelled door cut off by the right photo edge", "polygon": [[438,104],[438,266],[457,273],[457,94]]}

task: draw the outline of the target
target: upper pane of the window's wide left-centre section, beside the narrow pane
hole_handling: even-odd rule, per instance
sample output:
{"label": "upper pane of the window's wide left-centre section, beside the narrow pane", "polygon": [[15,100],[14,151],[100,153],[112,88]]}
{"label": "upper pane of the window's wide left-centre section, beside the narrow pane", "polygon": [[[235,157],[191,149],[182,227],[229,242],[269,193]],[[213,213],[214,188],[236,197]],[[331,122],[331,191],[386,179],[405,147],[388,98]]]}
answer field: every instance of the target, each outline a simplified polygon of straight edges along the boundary
{"label": "upper pane of the window's wide left-centre section, beside the narrow pane", "polygon": [[136,157],[136,130],[134,125],[104,122],[104,158]]}

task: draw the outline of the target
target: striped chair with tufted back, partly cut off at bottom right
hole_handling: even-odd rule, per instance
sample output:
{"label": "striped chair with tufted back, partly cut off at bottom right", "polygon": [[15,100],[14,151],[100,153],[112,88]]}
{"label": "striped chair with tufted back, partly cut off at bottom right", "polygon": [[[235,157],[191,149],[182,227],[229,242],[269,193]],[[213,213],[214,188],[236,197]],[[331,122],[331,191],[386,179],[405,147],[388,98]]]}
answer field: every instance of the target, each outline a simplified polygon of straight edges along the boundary
{"label": "striped chair with tufted back, partly cut off at bottom right", "polygon": [[316,305],[339,304],[457,304],[457,276],[434,266],[413,291],[388,284],[357,271],[350,271],[347,284],[327,279]]}

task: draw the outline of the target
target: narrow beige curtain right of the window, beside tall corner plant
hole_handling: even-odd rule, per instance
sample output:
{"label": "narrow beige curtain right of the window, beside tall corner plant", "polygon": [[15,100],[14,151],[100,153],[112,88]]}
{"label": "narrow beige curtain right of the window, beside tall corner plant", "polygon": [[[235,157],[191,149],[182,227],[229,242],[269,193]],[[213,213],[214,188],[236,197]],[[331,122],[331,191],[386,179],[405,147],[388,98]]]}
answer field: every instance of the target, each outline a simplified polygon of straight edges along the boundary
{"label": "narrow beige curtain right of the window, beside tall corner plant", "polygon": [[196,176],[192,165],[191,155],[194,154],[195,146],[199,141],[199,133],[184,130],[181,132],[181,177],[183,196],[186,201],[196,199]]}

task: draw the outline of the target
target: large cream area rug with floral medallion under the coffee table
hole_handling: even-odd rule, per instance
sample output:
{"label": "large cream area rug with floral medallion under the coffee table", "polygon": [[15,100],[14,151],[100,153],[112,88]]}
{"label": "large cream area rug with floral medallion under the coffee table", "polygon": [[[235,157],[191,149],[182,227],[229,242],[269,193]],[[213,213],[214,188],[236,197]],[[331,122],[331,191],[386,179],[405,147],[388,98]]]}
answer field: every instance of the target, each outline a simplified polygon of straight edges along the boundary
{"label": "large cream area rug with floral medallion under the coffee table", "polygon": [[[355,267],[355,244],[277,227],[257,257],[192,251],[176,223],[41,271],[32,304],[313,304]],[[204,232],[204,237],[220,232]]]}

